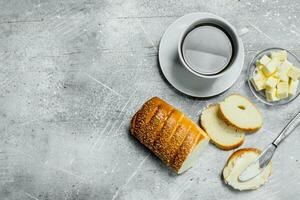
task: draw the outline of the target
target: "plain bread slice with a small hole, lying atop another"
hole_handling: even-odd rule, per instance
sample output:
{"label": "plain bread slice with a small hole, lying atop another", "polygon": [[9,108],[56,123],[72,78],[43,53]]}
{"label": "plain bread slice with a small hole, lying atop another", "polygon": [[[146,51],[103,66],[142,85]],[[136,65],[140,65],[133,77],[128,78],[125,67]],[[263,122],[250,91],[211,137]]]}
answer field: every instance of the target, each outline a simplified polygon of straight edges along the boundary
{"label": "plain bread slice with a small hole, lying atop another", "polygon": [[255,132],[262,127],[263,118],[256,106],[241,95],[230,95],[220,103],[220,116],[235,128]]}

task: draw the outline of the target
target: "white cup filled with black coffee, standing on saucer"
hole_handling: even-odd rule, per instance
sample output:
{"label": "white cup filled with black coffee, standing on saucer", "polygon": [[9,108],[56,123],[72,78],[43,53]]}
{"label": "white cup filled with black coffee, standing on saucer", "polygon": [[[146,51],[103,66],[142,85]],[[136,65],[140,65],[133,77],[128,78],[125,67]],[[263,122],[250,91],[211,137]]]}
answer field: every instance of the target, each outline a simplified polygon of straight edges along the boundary
{"label": "white cup filled with black coffee, standing on saucer", "polygon": [[178,55],[191,73],[204,79],[216,79],[230,75],[240,54],[241,41],[229,22],[213,14],[208,16],[191,22],[181,34]]}

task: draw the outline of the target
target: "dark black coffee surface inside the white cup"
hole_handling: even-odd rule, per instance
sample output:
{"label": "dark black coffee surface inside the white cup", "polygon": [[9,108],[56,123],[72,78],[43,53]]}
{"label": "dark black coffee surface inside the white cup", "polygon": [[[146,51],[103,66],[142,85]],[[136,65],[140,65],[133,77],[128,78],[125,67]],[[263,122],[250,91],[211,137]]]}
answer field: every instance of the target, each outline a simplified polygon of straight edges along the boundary
{"label": "dark black coffee surface inside the white cup", "polygon": [[185,36],[182,55],[194,71],[213,75],[221,72],[230,63],[233,45],[222,28],[212,24],[201,25]]}

